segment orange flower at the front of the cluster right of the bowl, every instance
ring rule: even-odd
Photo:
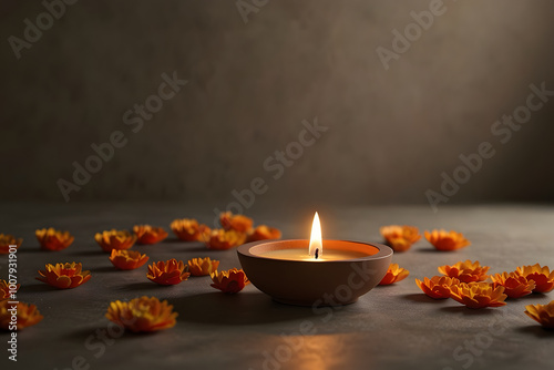
[[[469,308],[504,306],[507,296],[504,287],[493,287],[488,282],[461,282],[450,288],[450,297]]]

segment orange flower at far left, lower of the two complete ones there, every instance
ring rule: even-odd
[[[37,280],[59,289],[76,288],[91,279],[91,271],[82,271],[81,264],[47,264],[45,270],[39,270]]]

